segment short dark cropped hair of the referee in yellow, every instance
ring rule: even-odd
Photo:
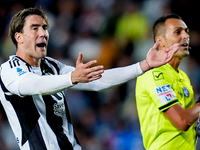
[[[174,14],[174,13],[168,14],[168,15],[165,15],[165,16],[158,18],[153,25],[153,39],[154,39],[154,41],[155,41],[156,36],[158,34],[160,34],[159,30],[160,30],[161,27],[163,27],[165,21],[167,19],[171,19],[171,18],[182,20],[182,18],[179,15]],[[162,29],[162,30],[165,30],[165,29]]]

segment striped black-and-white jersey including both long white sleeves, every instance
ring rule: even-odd
[[[17,56],[1,65],[0,101],[21,150],[81,150],[63,90],[104,90],[143,73],[136,63],[105,70],[98,80],[73,85],[74,70],[50,57],[42,58],[40,67]]]

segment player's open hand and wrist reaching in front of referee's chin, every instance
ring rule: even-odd
[[[174,54],[180,48],[180,44],[176,43],[165,50],[157,51],[159,45],[160,42],[156,42],[147,53],[146,59],[140,62],[140,66],[143,72],[168,63],[172,60]]]

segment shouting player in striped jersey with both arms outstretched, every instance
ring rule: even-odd
[[[18,12],[9,26],[17,51],[1,65],[0,100],[21,150],[81,150],[63,91],[98,91],[122,84],[167,63],[180,47],[157,52],[156,43],[146,60],[105,71],[94,66],[96,60],[83,64],[80,53],[72,67],[46,56],[48,27],[47,16],[36,8]]]

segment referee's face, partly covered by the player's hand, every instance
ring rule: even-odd
[[[183,58],[189,55],[189,29],[186,24],[179,19],[168,19],[165,22],[166,32],[164,44],[167,47],[175,43],[180,43],[180,49],[174,57]]]

